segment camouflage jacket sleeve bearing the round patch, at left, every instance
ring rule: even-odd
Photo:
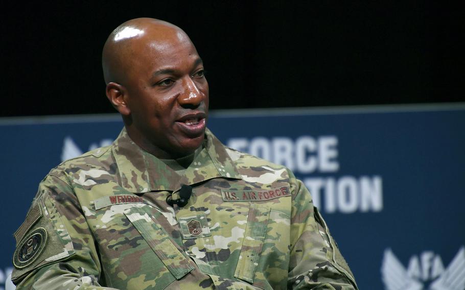
[[[48,176],[15,232],[12,280],[20,289],[114,289],[104,283],[94,238],[72,188]]]

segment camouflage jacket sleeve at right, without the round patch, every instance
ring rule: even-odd
[[[291,175],[291,253],[288,288],[358,289],[308,189]]]

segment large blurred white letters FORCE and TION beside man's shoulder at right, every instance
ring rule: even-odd
[[[300,176],[320,210],[333,213],[379,212],[383,180],[379,175],[314,177],[339,171],[337,136],[231,138],[227,146],[282,164]],[[312,174],[312,177],[305,175]]]

